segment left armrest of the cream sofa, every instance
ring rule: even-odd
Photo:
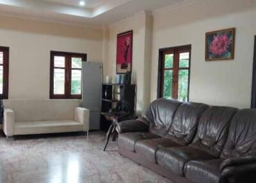
[[[4,108],[3,131],[6,136],[13,136],[14,125],[15,125],[14,123],[15,123],[14,111],[10,108]]]

